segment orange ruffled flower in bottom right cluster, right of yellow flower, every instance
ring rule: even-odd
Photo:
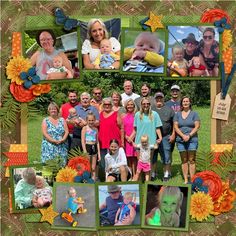
[[[214,202],[214,209],[211,212],[213,215],[219,215],[223,212],[228,212],[234,207],[233,202],[236,199],[236,193],[229,188],[229,181],[222,182],[222,188],[222,194]]]

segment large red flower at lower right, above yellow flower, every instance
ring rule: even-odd
[[[208,193],[212,197],[213,202],[217,200],[223,192],[222,181],[219,175],[213,171],[202,171],[193,176],[192,182],[197,177],[200,177],[203,180],[203,185],[208,187]]]

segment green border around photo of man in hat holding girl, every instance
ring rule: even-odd
[[[139,186],[139,205],[140,205],[140,224],[139,225],[124,225],[124,226],[105,226],[102,227],[100,226],[100,219],[99,219],[99,186],[108,186],[108,185],[138,185]],[[141,223],[142,223],[142,212],[143,212],[143,194],[142,194],[142,187],[143,185],[141,182],[138,181],[131,181],[131,182],[100,182],[100,183],[95,183],[96,186],[96,223],[97,223],[97,229],[98,230],[120,230],[120,229],[134,229],[134,228],[141,228]]]

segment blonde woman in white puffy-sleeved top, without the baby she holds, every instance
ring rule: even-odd
[[[105,38],[109,38],[105,24],[99,19],[91,19],[88,22],[87,39],[82,45],[83,64],[85,69],[95,69],[93,63],[100,54],[100,42]],[[114,37],[111,37],[109,40],[111,41],[112,51],[115,54],[120,55],[119,41]],[[115,61],[112,66],[114,69],[119,69],[120,62]]]

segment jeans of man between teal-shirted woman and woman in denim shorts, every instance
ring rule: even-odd
[[[174,149],[175,143],[169,142],[170,135],[166,135],[162,138],[161,143],[157,150],[154,151],[152,164],[157,162],[158,153],[161,156],[161,162],[164,165],[171,164],[172,162],[172,151]]]

